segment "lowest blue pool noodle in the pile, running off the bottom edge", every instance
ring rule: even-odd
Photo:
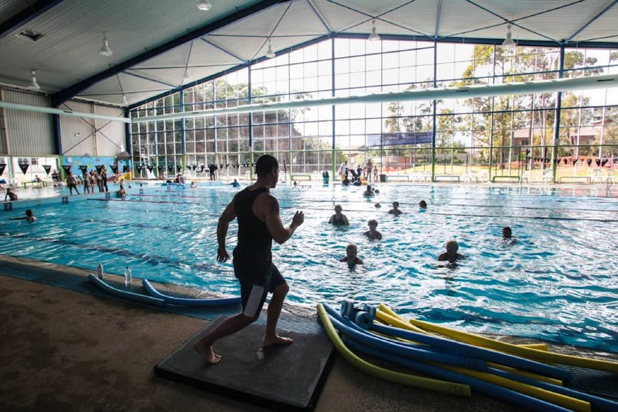
[[[343,325],[343,323],[334,321],[333,324],[336,325],[335,328],[337,329],[339,329],[340,327],[342,328],[339,329],[340,332],[347,334],[346,326]],[[519,393],[517,391],[513,391],[512,389],[507,389],[499,385],[494,385],[492,383],[485,382],[477,378],[472,378],[470,376],[458,374],[457,372],[448,371],[435,365],[415,362],[409,358],[404,358],[402,356],[385,353],[380,350],[367,347],[355,341],[349,334],[347,334],[347,336],[349,337],[344,339],[344,342],[348,347],[350,347],[351,350],[354,350],[356,352],[362,352],[363,354],[367,354],[369,356],[375,356],[376,358],[380,358],[385,361],[395,363],[396,365],[413,369],[415,371],[420,371],[424,374],[427,374],[428,376],[433,376],[435,378],[444,380],[450,380],[452,382],[465,383],[466,385],[470,385],[470,388],[474,389],[474,391],[479,391],[481,393],[485,393],[486,395],[493,396],[494,398],[501,399],[505,402],[519,405],[520,407],[524,407],[527,410],[543,412],[571,411],[571,409],[563,408],[551,402],[540,400],[538,398],[525,395],[524,393]]]

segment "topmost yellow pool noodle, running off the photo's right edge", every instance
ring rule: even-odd
[[[394,313],[390,308],[388,308],[388,306],[384,304],[380,304],[378,309],[378,318],[380,317],[380,312],[386,312],[387,314],[391,315]],[[496,339],[485,338],[485,336],[479,336],[477,334],[472,334],[469,332],[462,332],[459,330],[445,328],[444,326],[436,325],[435,323],[429,323],[417,319],[409,319],[409,323],[411,323],[411,325],[414,325],[416,328],[421,328],[430,332],[439,333],[452,339],[457,339],[458,341],[470,343],[477,346],[490,347],[492,349],[499,350],[500,352],[523,356],[525,358],[534,359],[536,361],[584,367],[588,369],[595,369],[597,371],[606,371],[613,374],[618,374],[618,362],[614,361],[602,361],[599,359],[584,358],[582,356],[558,354],[556,352],[547,352],[544,350],[536,350],[529,347],[521,347],[518,345],[513,345],[512,343],[496,341]]]

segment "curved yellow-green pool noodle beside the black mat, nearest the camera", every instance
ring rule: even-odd
[[[321,323],[326,331],[326,334],[330,337],[334,347],[336,347],[337,351],[343,358],[345,358],[348,362],[352,363],[358,369],[365,371],[367,374],[372,376],[376,376],[377,378],[381,378],[384,380],[388,380],[389,382],[398,383],[401,385],[407,385],[410,387],[416,387],[420,389],[428,389],[431,391],[438,391],[442,393],[450,393],[452,395],[457,396],[465,396],[467,398],[470,397],[470,386],[464,385],[457,382],[446,382],[444,380],[437,380],[433,378],[425,378],[423,376],[415,376],[411,374],[404,374],[399,371],[393,371],[390,369],[386,369],[383,367],[379,367],[374,365],[373,363],[369,363],[365,361],[363,358],[356,356],[354,352],[348,349],[339,334],[337,334],[334,325],[323,305],[317,305],[317,311],[319,314],[319,318]]]

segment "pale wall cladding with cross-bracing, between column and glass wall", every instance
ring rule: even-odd
[[[82,113],[124,116],[121,108],[84,102],[65,102],[61,108]],[[62,155],[115,156],[124,150],[124,123],[101,119],[60,116]]]

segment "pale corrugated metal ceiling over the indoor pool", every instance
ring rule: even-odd
[[[371,19],[380,35],[500,39],[513,21],[516,41],[558,45],[579,32],[573,45],[615,47],[618,38],[617,0],[211,0],[208,12],[197,0],[50,3],[20,23],[15,16],[27,3],[0,0],[0,24],[12,27],[0,37],[0,82],[25,87],[36,69],[42,91],[118,105],[123,93],[135,103],[187,84],[185,67],[194,82],[262,58],[268,38],[277,52],[333,34],[368,34]],[[203,27],[210,30],[165,47]],[[18,35],[25,29],[45,36],[31,41]],[[112,56],[98,53],[102,32]],[[148,55],[161,46],[161,54]]]

